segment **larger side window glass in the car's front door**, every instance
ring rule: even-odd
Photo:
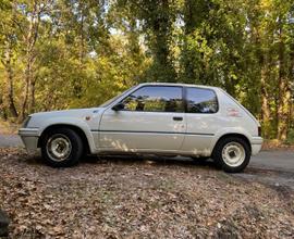
[[[123,100],[126,111],[183,112],[182,87],[146,86]]]

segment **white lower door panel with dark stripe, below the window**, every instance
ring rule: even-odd
[[[183,121],[175,122],[173,116],[183,117]],[[184,113],[115,112],[108,109],[99,127],[99,148],[123,152],[176,151],[182,146],[185,130]]]

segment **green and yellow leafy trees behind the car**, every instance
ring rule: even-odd
[[[293,0],[0,0],[0,117],[143,81],[219,86],[294,142]]]

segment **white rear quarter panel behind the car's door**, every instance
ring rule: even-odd
[[[209,156],[218,140],[229,134],[245,136],[250,143],[258,137],[258,122],[222,90],[216,90],[219,111],[212,114],[187,113],[187,134],[181,151]],[[261,144],[262,140],[256,144]],[[255,149],[258,147],[255,147]],[[255,153],[255,152],[253,152]]]

